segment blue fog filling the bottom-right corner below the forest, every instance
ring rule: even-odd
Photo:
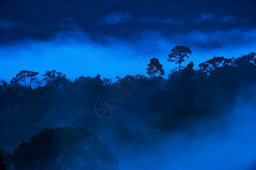
[[[120,169],[255,169],[255,113],[255,98],[239,101],[227,116],[211,122],[212,131],[205,133],[202,122],[129,156],[117,154]]]

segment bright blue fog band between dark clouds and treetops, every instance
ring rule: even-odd
[[[20,70],[40,73],[47,70],[62,71],[71,80],[81,75],[102,77],[120,77],[129,73],[148,52],[163,63],[166,75],[177,67],[167,62],[167,54],[175,45],[190,46],[192,54],[184,66],[193,61],[198,64],[214,56],[226,58],[239,57],[255,50],[255,29],[216,31],[203,33],[191,31],[168,39],[157,31],[145,31],[134,41],[105,37],[106,41],[96,42],[82,32],[58,33],[49,41],[22,40],[12,45],[0,47],[0,76],[7,82]],[[142,69],[142,68],[140,68]],[[142,69],[143,70],[143,69]]]

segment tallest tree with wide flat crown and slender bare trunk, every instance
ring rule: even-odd
[[[184,45],[174,46],[171,49],[171,54],[168,55],[167,61],[175,62],[175,64],[179,64],[179,90],[181,89],[181,63],[184,62],[184,58],[188,58],[188,54],[191,54],[190,48]]]

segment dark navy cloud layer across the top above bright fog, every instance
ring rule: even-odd
[[[82,31],[92,40],[133,41],[147,30],[165,37],[191,31],[216,32],[256,27],[254,1],[1,1],[1,44],[49,40],[58,32]],[[4,23],[4,24],[3,24]],[[14,23],[22,23],[14,24]],[[214,45],[210,41],[207,46]],[[196,42],[200,44],[200,42]]]

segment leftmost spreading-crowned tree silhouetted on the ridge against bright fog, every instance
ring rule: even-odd
[[[37,81],[36,76],[38,74],[39,73],[34,71],[22,70],[18,74],[16,74],[15,79],[18,80],[19,83],[24,83],[25,87],[27,87],[26,80],[30,79],[30,87],[31,87],[31,83]]]

